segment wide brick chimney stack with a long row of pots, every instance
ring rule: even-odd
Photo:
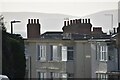
[[[62,30],[63,33],[91,35],[91,28],[90,19],[73,19],[67,21],[67,25],[63,26]]]

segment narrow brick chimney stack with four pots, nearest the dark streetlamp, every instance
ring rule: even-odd
[[[39,38],[39,37],[40,37],[39,19],[28,19],[27,38]]]

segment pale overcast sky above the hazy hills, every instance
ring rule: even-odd
[[[42,12],[85,16],[118,8],[119,0],[0,0],[2,12]]]

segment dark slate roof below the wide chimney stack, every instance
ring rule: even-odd
[[[99,35],[88,35],[88,34],[71,34],[71,33],[63,33],[63,32],[45,32],[40,35],[41,39],[61,39],[61,40],[87,40],[87,39],[110,39],[111,35],[107,34],[99,34]]]

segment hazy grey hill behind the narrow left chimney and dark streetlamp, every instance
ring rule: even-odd
[[[76,16],[71,15],[36,12],[3,12],[2,15],[5,17],[8,32],[10,32],[10,21],[21,21],[21,23],[14,24],[14,32],[22,34],[23,37],[26,37],[26,25],[29,18],[40,19],[42,33],[46,31],[62,31],[63,21],[65,18],[77,18]]]

